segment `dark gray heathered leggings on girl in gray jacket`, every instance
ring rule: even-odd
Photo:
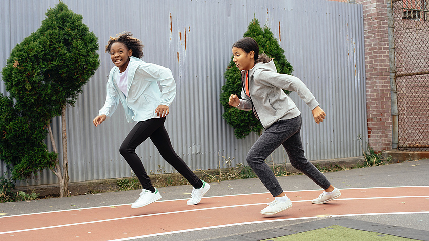
[[[270,167],[265,163],[265,159],[280,145],[286,150],[293,167],[310,177],[314,183],[323,189],[327,189],[331,184],[328,179],[304,156],[302,148],[300,130],[301,115],[293,119],[275,122],[259,139],[253,144],[247,153],[247,164],[259,177],[263,185],[270,191],[273,197],[283,192],[282,187]]]

